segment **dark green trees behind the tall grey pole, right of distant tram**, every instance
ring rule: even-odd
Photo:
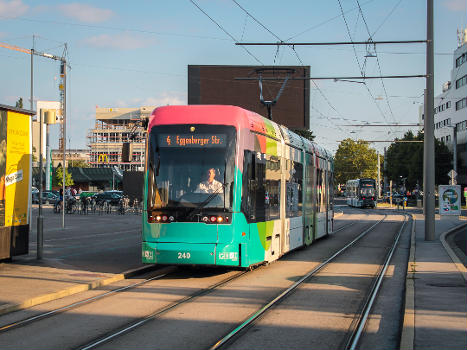
[[[405,133],[401,141],[423,141],[424,134],[416,136],[412,131]],[[397,139],[396,139],[397,140]],[[447,184],[447,173],[452,168],[452,153],[447,146],[435,139],[435,184]],[[399,185],[402,178],[407,178],[407,189],[413,189],[418,183],[423,184],[423,142],[394,142],[386,152],[386,172],[388,180]]]

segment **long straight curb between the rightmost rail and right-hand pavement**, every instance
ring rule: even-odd
[[[404,321],[399,349],[413,350],[415,341],[415,225],[417,220],[412,217],[412,232],[410,235],[410,255],[407,266],[407,277],[405,278],[405,305]]]

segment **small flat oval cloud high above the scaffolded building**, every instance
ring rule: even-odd
[[[128,33],[122,33],[116,35],[102,34],[92,36],[84,39],[84,43],[97,48],[133,50],[147,47],[152,41]]]

